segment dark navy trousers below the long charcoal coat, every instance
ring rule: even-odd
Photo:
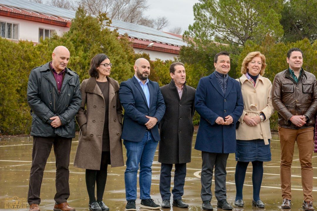
[[[162,200],[171,198],[171,170],[173,164],[161,163],[159,178],[159,192]],[[173,200],[182,199],[186,177],[186,163],[175,164],[174,187],[172,189]]]

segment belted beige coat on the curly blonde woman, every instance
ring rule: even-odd
[[[236,80],[239,81],[239,79]],[[262,75],[258,76],[255,87],[245,74],[240,77],[240,81],[242,84],[241,91],[244,109],[239,119],[239,128],[236,130],[236,139],[264,139],[264,143],[268,144],[268,139],[272,138],[269,118],[275,111],[271,98],[272,83],[268,78],[264,78]],[[246,114],[249,117],[256,117],[259,116],[260,113],[264,113],[266,119],[256,126],[249,126],[243,121]]]

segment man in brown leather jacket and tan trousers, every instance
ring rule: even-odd
[[[314,74],[303,68],[303,52],[291,48],[286,58],[289,68],[276,74],[272,102],[278,111],[278,132],[281,142],[282,208],[291,208],[291,165],[297,142],[304,193],[303,208],[313,207],[314,115],[317,110],[317,84]]]

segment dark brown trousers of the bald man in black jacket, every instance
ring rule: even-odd
[[[28,203],[40,204],[40,192],[43,173],[52,146],[56,160],[56,194],[54,200],[60,204],[66,202],[69,193],[69,155],[72,145],[71,138],[64,137],[33,137],[32,167],[30,171]]]

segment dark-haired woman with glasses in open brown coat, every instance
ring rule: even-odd
[[[118,81],[109,77],[112,64],[105,54],[91,60],[89,79],[80,86],[82,103],[76,115],[81,128],[74,166],[86,169],[89,210],[108,211],[102,201],[107,166],[123,166],[122,106]],[[86,110],[85,110],[86,105]],[[97,186],[97,200],[95,198]]]

